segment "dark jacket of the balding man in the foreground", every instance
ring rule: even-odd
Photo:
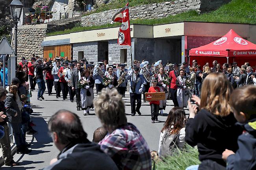
[[[100,150],[100,145],[87,142],[65,148],[58,161],[44,170],[118,170],[114,161]]]

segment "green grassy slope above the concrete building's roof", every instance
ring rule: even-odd
[[[131,24],[167,24],[171,22],[182,21],[203,21],[203,22],[230,22],[256,24],[256,0],[232,0],[230,3],[221,6],[216,11],[210,13],[198,14],[196,11],[180,13],[175,16],[169,16],[161,19],[136,19],[131,20]],[[47,35],[59,35],[77,31],[95,30],[99,28],[110,28],[119,26],[119,23],[113,25],[106,24],[92,27],[74,27],[64,31],[56,31]]]

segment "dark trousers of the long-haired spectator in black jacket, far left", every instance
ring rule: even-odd
[[[11,123],[13,128],[14,139],[18,148],[25,146],[25,138],[21,129],[21,123]]]

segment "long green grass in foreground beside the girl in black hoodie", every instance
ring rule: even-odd
[[[166,157],[163,161],[156,163],[157,170],[185,170],[188,166],[200,164],[198,160],[198,150],[189,145],[186,149]]]

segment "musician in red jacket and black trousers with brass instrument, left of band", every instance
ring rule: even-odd
[[[58,74],[63,100],[66,100],[69,92],[68,83],[65,80],[65,72],[68,69],[68,64],[69,64],[68,62],[63,62],[63,67],[59,68],[59,74]]]

